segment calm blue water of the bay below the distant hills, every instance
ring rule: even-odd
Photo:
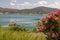
[[[40,18],[43,18],[43,15],[20,15],[20,14],[2,14],[0,15],[0,24],[5,26],[10,23],[10,21],[14,21],[17,24],[33,24],[40,21]],[[26,28],[33,28],[34,25],[29,25],[29,27],[25,26]]]

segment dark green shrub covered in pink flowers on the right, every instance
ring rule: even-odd
[[[41,19],[40,31],[48,36],[48,40],[60,39],[60,10],[49,13]]]

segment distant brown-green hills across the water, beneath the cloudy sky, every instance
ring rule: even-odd
[[[0,7],[0,12],[2,13],[8,12],[8,13],[19,13],[19,14],[47,14],[49,12],[55,12],[56,10],[57,10],[56,8],[49,8],[43,6],[32,9],[23,9],[23,10]]]

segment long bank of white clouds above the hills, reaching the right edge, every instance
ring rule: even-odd
[[[45,7],[51,7],[51,8],[60,8],[59,1],[51,3],[51,4],[48,4],[47,1],[38,1],[36,3],[24,2],[22,4],[11,2],[10,5],[17,8],[17,9],[28,9],[28,8],[34,8],[34,7],[39,7],[39,6],[45,6]]]

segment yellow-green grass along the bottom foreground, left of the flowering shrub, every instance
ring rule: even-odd
[[[43,33],[0,29],[0,40],[46,40],[46,36]]]

